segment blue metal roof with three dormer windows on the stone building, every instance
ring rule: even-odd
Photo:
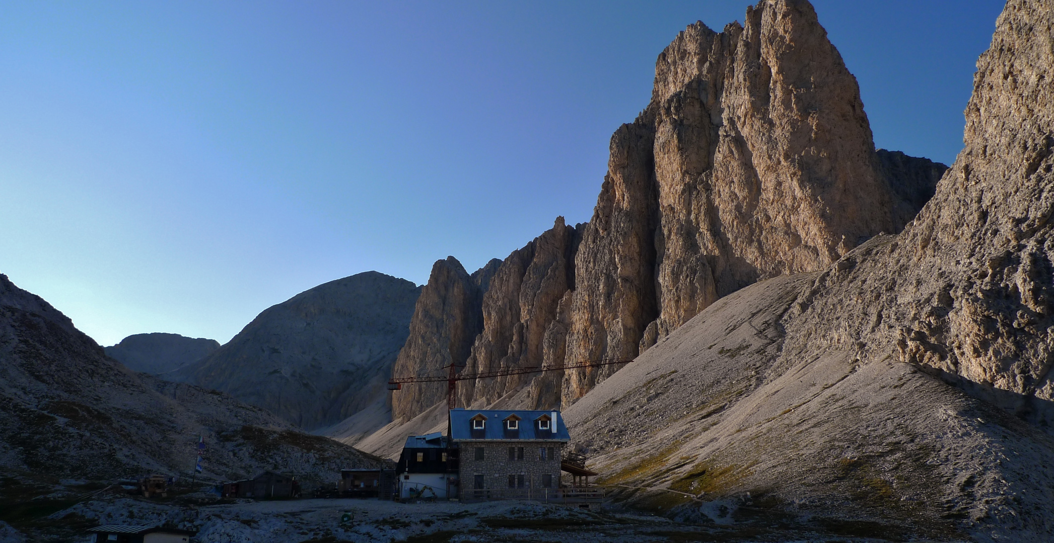
[[[472,429],[472,419],[476,415],[486,417],[483,430]],[[516,430],[505,428],[505,420],[511,415],[521,419],[520,427]],[[553,428],[554,431],[538,428],[538,419],[546,415],[553,419],[550,428]],[[564,417],[560,415],[560,411],[529,409],[451,409],[450,437],[454,440],[571,440],[571,435],[568,434]]]

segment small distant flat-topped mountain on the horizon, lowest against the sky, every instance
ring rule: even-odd
[[[104,348],[108,357],[129,369],[156,375],[201,360],[219,348],[219,342],[157,331],[129,336]]]

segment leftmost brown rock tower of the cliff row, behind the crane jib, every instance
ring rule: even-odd
[[[391,375],[444,377],[445,366],[465,365],[472,341],[483,328],[483,293],[499,264],[492,260],[470,276],[453,257],[435,262]],[[446,398],[446,383],[407,385],[392,395],[392,418],[412,419],[436,403],[445,403]]]

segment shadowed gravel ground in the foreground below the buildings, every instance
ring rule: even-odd
[[[212,504],[207,504],[209,500]],[[36,529],[27,541],[87,543],[90,539],[83,535],[83,529],[97,524],[176,526],[197,530],[195,540],[200,543],[884,541],[860,537],[866,534],[854,534],[853,529],[859,531],[859,527],[759,523],[734,519],[735,515],[713,522],[705,520],[709,518],[706,511],[702,511],[704,521],[688,524],[613,507],[589,511],[519,501],[403,504],[378,500],[238,500],[216,503],[214,497],[206,495],[181,497],[177,501],[181,503],[110,497],[80,503],[52,515],[51,528]],[[345,515],[350,519],[344,520]],[[74,536],[70,526],[79,526],[78,535]]]

